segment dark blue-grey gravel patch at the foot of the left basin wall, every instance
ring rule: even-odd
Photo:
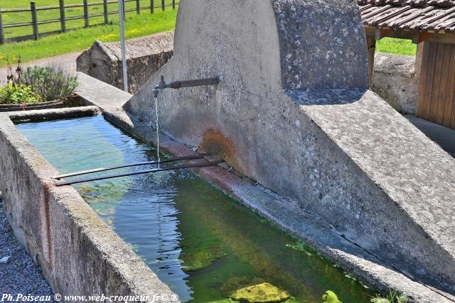
[[[31,294],[53,298],[53,292],[41,269],[33,263],[31,256],[14,237],[6,221],[0,197],[0,260],[6,256],[11,258],[7,263],[0,262],[0,296],[12,294],[16,299],[17,294]]]

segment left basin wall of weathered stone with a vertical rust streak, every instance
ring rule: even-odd
[[[0,191],[16,237],[53,291],[62,295],[139,295],[171,302],[171,290],[0,114]],[[166,294],[163,299],[161,294]],[[144,302],[144,300],[141,300]]]

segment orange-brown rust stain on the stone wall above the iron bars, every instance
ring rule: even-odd
[[[206,130],[203,133],[202,143],[200,143],[199,149],[218,158],[222,158],[235,170],[241,171],[234,144],[221,131],[213,128]]]

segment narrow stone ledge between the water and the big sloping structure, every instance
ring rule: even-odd
[[[156,133],[119,109],[103,111],[105,118],[128,133],[156,143]],[[160,149],[175,157],[196,155],[191,148],[161,134]],[[194,169],[201,177],[227,192],[242,204],[275,222],[279,227],[309,243],[333,262],[343,266],[375,290],[387,294],[390,288],[410,296],[410,302],[454,302],[455,297],[435,292],[431,287],[411,280],[402,272],[360,248],[331,229],[314,214],[301,209],[299,203],[286,199],[259,184],[252,184],[221,167]]]

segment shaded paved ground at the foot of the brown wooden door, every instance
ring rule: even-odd
[[[441,126],[416,116],[406,116],[428,138],[441,146],[443,150],[455,157],[455,129]]]

